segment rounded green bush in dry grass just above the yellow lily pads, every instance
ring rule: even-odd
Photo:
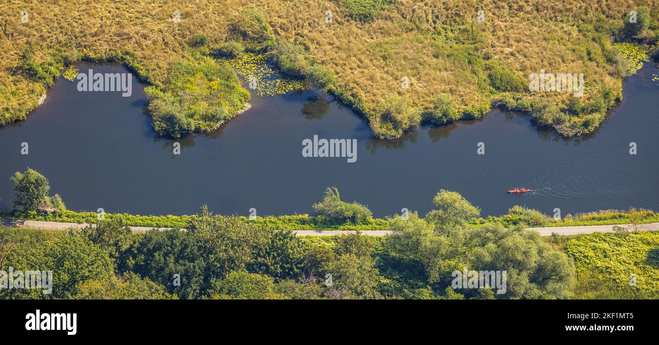
[[[246,51],[263,53],[275,46],[275,37],[266,18],[254,7],[243,7],[229,24],[230,38]]]

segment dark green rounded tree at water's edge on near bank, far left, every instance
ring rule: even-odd
[[[10,180],[16,191],[14,209],[37,211],[46,204],[50,185],[42,174],[28,168],[24,173],[14,173]]]

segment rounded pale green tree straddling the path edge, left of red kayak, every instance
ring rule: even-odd
[[[473,206],[460,193],[440,190],[432,199],[437,208],[428,212],[426,220],[435,225],[435,231],[444,233],[461,229],[469,219],[480,216],[480,208]]]

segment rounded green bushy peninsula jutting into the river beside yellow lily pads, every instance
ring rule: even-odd
[[[235,73],[210,57],[176,62],[167,78],[165,89],[144,89],[154,129],[165,137],[211,131],[243,110],[250,99]]]

